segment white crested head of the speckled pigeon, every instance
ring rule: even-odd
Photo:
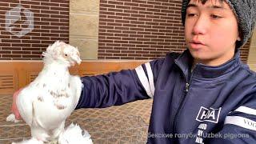
[[[65,42],[54,42],[53,45],[48,46],[46,52],[42,53],[44,62],[59,62],[67,66],[78,65],[82,62],[77,47],[66,44]]]

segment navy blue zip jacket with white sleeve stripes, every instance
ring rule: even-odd
[[[256,144],[256,77],[239,52],[191,72],[192,62],[185,50],[134,70],[84,77],[76,109],[154,98],[148,143]]]

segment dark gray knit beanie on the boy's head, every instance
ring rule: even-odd
[[[241,41],[236,43],[236,48],[242,47],[250,38],[256,21],[256,0],[225,0],[238,18],[239,34]],[[182,0],[182,23],[185,25],[186,6],[190,0]]]

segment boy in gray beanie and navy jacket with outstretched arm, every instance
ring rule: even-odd
[[[188,50],[81,78],[77,109],[154,98],[148,143],[256,143],[256,74],[239,58],[255,18],[255,0],[183,0]]]

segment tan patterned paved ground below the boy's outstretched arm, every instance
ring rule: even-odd
[[[11,94],[0,95],[0,144],[10,142],[1,139],[30,136],[30,129],[24,126],[24,122],[18,122],[15,125],[6,122],[6,117],[10,114],[11,102]],[[150,121],[151,106],[152,99],[148,99],[104,109],[75,110],[67,123],[78,122],[89,131],[93,139],[97,140],[94,143],[143,143],[146,127]],[[141,136],[140,133],[144,135]],[[141,137],[143,141],[137,142]]]

